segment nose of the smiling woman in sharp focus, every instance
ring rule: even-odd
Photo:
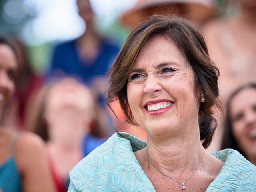
[[[145,81],[144,93],[154,95],[162,90],[158,79],[154,76],[148,76]]]

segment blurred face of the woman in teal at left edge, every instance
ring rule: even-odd
[[[6,44],[0,44],[0,110],[14,94],[17,67],[13,50]]]

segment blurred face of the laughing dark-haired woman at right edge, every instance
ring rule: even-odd
[[[256,156],[256,89],[246,88],[230,103],[232,131],[246,156]]]

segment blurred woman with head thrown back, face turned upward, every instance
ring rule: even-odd
[[[106,136],[98,129],[104,127],[104,119],[96,121],[101,111],[90,89],[73,78],[46,85],[30,105],[27,127],[46,141],[56,188],[66,192],[70,170],[106,140],[96,137]]]

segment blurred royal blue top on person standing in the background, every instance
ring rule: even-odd
[[[64,74],[80,78],[90,84],[95,76],[106,76],[120,48],[109,40],[100,42],[98,56],[94,61],[80,60],[76,40],[59,44],[55,47],[49,75],[51,77]]]

